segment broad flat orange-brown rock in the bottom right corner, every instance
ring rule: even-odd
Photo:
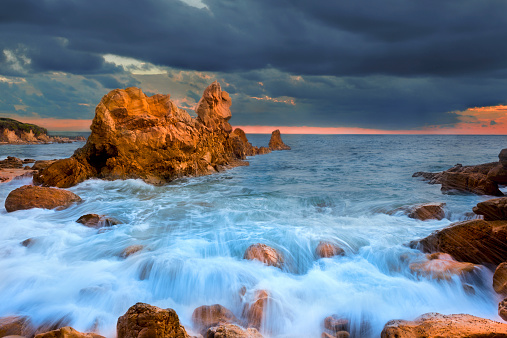
[[[507,337],[507,324],[466,314],[427,313],[414,321],[391,320],[382,330],[382,338],[415,337]]]

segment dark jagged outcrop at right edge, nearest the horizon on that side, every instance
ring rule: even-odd
[[[438,172],[416,172],[412,177],[422,177],[430,184],[442,184],[441,190],[472,192],[478,195],[502,196],[498,185],[507,185],[507,149],[502,149],[498,162],[454,167]]]

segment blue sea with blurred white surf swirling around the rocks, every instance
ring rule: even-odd
[[[269,135],[248,135],[265,146]],[[201,305],[221,304],[237,317],[246,296],[267,290],[261,333],[320,337],[325,317],[350,321],[355,337],[378,337],[391,319],[427,312],[500,320],[492,273],[467,282],[432,280],[408,268],[423,254],[407,246],[492,198],[444,195],[412,178],[456,163],[498,160],[507,136],[282,135],[290,151],[249,158],[250,166],[151,186],[140,180],[88,180],[69,190],[83,203],[66,210],[7,213],[9,192],[30,179],[0,185],[0,317],[28,315],[35,324],[63,320],[78,331],[114,337],[116,321],[136,302],[173,308],[192,331]],[[0,158],[65,158],[83,142],[0,146]],[[504,190],[505,191],[505,190]],[[445,202],[446,218],[419,221],[402,207]],[[124,224],[97,230],[75,221],[105,214]],[[33,245],[20,242],[33,239]],[[317,259],[320,241],[344,256]],[[282,269],[243,259],[264,243],[279,250]],[[126,259],[130,245],[144,249]],[[195,332],[194,332],[195,333]]]

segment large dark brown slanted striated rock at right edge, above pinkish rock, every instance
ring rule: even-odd
[[[498,265],[507,261],[507,221],[453,223],[410,243],[424,252],[443,252],[460,262]]]

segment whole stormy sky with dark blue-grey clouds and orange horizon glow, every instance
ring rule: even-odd
[[[1,0],[0,117],[89,130],[140,87],[246,132],[507,134],[505,0]]]

